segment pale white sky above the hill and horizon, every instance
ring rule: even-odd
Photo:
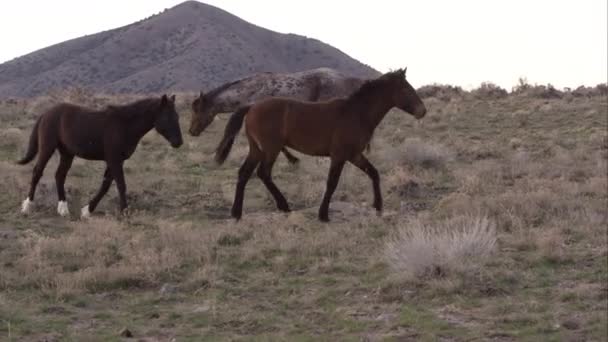
[[[0,63],[130,24],[179,0],[2,0]],[[414,86],[518,78],[558,88],[607,81],[606,0],[206,0],[258,26],[331,44]]]

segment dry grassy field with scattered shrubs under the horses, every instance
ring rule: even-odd
[[[40,111],[129,99],[2,101],[0,340],[605,341],[607,96],[520,89],[430,87],[423,121],[389,113],[369,154],[385,212],[347,166],[329,224],[316,219],[328,161],[307,156],[275,167],[294,212],[252,178],[230,219],[247,147],[214,164],[226,116],[178,150],[144,137],[128,216],[113,186],[79,219],[104,165],[77,159],[59,217],[55,156],[24,217],[33,164],[14,161]],[[191,98],[178,96],[185,134]]]

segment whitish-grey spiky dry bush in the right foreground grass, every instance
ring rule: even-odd
[[[384,257],[405,280],[475,273],[496,244],[485,216],[460,216],[426,225],[412,220],[386,241]]]

